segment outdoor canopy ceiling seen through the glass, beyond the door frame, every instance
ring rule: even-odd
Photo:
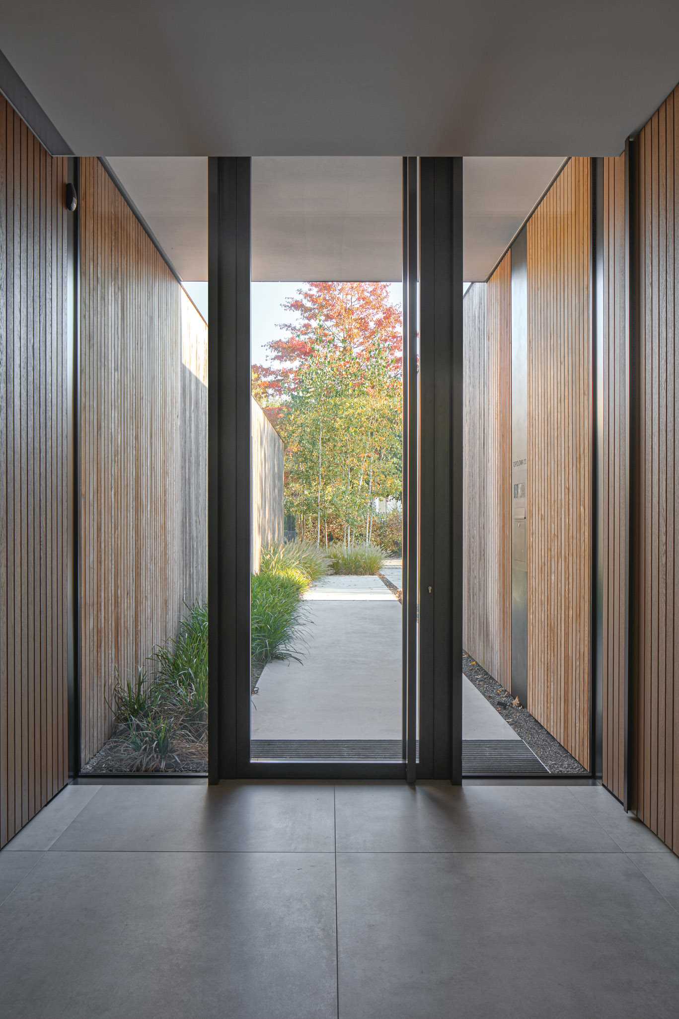
[[[486,279],[557,158],[463,161],[464,278]],[[109,157],[184,280],[208,277],[207,160]],[[401,160],[252,160],[252,279],[401,278]]]

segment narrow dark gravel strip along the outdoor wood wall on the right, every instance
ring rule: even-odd
[[[518,698],[513,698],[466,651],[462,654],[462,671],[552,774],[587,774],[586,768],[571,757],[529,711],[517,703]]]

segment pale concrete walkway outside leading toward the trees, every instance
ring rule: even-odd
[[[400,566],[391,569],[400,578]],[[324,577],[304,600],[301,663],[273,661],[262,673],[252,739],[400,740],[397,599],[379,577]],[[462,689],[463,739],[519,739],[466,677]]]

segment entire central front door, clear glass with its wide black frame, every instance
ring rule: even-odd
[[[210,160],[212,782],[460,781],[461,169]]]

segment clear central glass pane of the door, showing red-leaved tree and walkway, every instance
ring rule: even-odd
[[[397,158],[251,161],[260,767],[404,767],[402,181]]]

